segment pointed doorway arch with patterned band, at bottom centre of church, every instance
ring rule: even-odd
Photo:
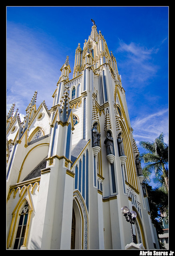
[[[75,249],[88,249],[88,214],[79,190],[73,193],[73,208],[76,216]]]

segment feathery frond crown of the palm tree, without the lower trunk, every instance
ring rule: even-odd
[[[145,182],[150,182],[151,174],[154,174],[153,182],[158,184],[160,190],[168,193],[168,145],[164,143],[164,135],[161,133],[154,142],[139,142],[147,153],[140,155],[146,165],[143,167]]]

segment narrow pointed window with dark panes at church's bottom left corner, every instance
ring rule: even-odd
[[[17,232],[16,232],[16,238],[15,238],[13,249],[20,249],[20,246],[23,245],[24,236],[25,236],[25,233],[26,233],[28,210],[29,210],[29,205],[28,205],[28,202],[26,202],[24,204],[24,206],[22,207],[22,210],[19,214],[20,219],[19,219],[19,222],[18,222],[18,229],[17,229]]]

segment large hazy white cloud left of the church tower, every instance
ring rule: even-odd
[[[52,106],[52,93],[56,88],[62,62],[58,63],[45,48],[39,36],[25,27],[8,24],[7,36],[7,111],[16,103],[19,112],[25,114],[34,92],[37,102],[46,100]],[[59,54],[59,53],[58,53]]]

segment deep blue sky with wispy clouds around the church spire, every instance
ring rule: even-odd
[[[52,94],[69,56],[88,39],[95,20],[117,60],[133,137],[153,142],[168,135],[169,8],[167,6],[7,6],[6,105],[15,102],[20,117],[37,90],[36,107]]]

